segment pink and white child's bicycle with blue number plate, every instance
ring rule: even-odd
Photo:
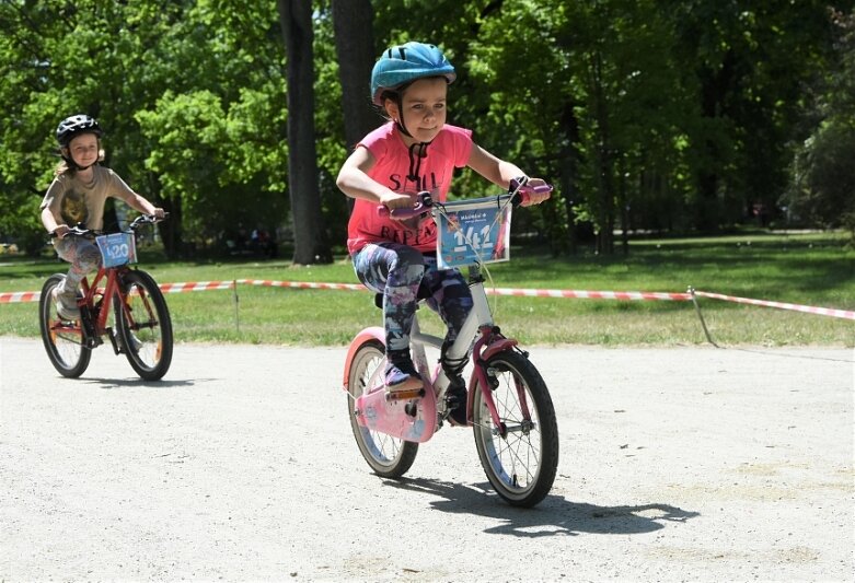
[[[552,190],[551,186],[535,188]],[[466,417],[487,479],[507,502],[525,508],[552,489],[558,428],[546,384],[528,352],[493,322],[483,266],[508,260],[511,209],[533,189],[521,179],[508,194],[444,203],[431,202],[424,193],[415,209],[391,211],[401,219],[430,212],[437,222],[440,268],[469,269],[474,307],[448,354],[470,361]],[[442,338],[423,333],[416,317],[411,351],[425,386],[390,396],[384,386],[384,336],[382,327],[369,327],[354,338],[344,389],[354,436],[366,462],[379,476],[398,478],[412,467],[418,444],[448,420],[449,380],[439,364],[430,371],[425,350],[439,349]]]

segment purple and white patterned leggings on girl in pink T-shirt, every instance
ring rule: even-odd
[[[353,257],[354,270],[368,289],[383,294],[386,354],[409,354],[409,328],[419,284],[430,292],[427,304],[448,326],[453,342],[472,311],[472,293],[457,269],[438,269],[436,257],[400,243],[368,244]]]

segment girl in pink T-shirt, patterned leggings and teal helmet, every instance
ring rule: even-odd
[[[429,214],[396,220],[381,217],[378,205],[390,210],[411,208],[418,193],[444,202],[455,167],[470,167],[507,189],[524,176],[515,164],[500,160],[472,140],[472,131],[446,123],[448,85],[454,67],[434,45],[406,43],[386,49],[371,72],[371,98],[389,121],[366,136],[343,164],[336,184],[356,199],[348,223],[347,248],[359,281],[383,295],[385,384],[391,393],[423,386],[409,353],[409,329],[419,296],[439,313],[448,327],[440,362],[451,381],[448,389],[451,419],[466,424],[466,387],[461,376],[465,358],[451,358],[447,349],[457,339],[472,310],[472,295],[457,269],[437,267],[436,224]],[[532,186],[545,184],[531,178]],[[548,194],[532,194],[536,205]]]

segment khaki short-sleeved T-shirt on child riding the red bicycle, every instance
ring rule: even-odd
[[[118,174],[104,166],[93,166],[93,179],[84,183],[78,173],[61,174],[54,178],[39,209],[49,208],[54,217],[74,226],[83,223],[86,229],[100,231],[104,226],[104,202],[114,197],[129,202],[136,195]]]

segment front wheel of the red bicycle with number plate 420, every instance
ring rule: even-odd
[[[125,302],[116,294],[116,326],[131,368],[146,381],[158,381],[172,363],[172,320],[157,282],[140,270],[122,276]]]

